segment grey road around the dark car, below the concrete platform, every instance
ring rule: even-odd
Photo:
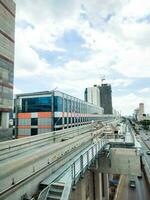
[[[135,178],[136,188],[129,187],[128,176],[122,176],[121,187],[116,200],[150,200],[150,188],[142,174],[142,179]]]

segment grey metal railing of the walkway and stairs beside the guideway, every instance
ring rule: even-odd
[[[86,148],[79,155],[77,155],[72,161],[70,161],[70,163],[67,163],[67,165],[69,165],[68,169],[64,170],[64,172],[61,171],[61,174],[58,175],[56,180],[49,177],[42,181],[41,184],[47,186],[40,193],[38,200],[47,199],[49,191],[51,190],[51,185],[54,183],[64,184],[64,191],[62,192],[61,199],[67,200],[72,186],[75,187],[80,177],[84,176],[85,171],[90,168],[91,164],[94,164],[95,158],[98,159],[98,153],[103,150],[106,143],[107,141],[105,139],[100,139],[97,144],[92,144],[90,147]]]

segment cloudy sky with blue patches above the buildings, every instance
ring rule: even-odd
[[[15,0],[15,94],[57,89],[80,99],[112,86],[113,108],[150,113],[150,0]]]

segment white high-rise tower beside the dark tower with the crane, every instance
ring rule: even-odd
[[[86,102],[92,103],[96,106],[100,106],[100,90],[97,85],[88,87],[84,92],[84,99]]]

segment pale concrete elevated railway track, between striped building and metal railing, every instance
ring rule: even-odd
[[[73,162],[93,145],[93,139],[101,136],[102,132],[103,127],[96,130],[87,125],[80,127],[80,131],[76,127],[72,132],[71,129],[65,129],[1,143],[0,199],[17,200],[26,193],[32,197],[37,193],[42,180],[57,174],[66,163]],[[99,142],[97,148],[102,148],[108,141],[104,138]]]

